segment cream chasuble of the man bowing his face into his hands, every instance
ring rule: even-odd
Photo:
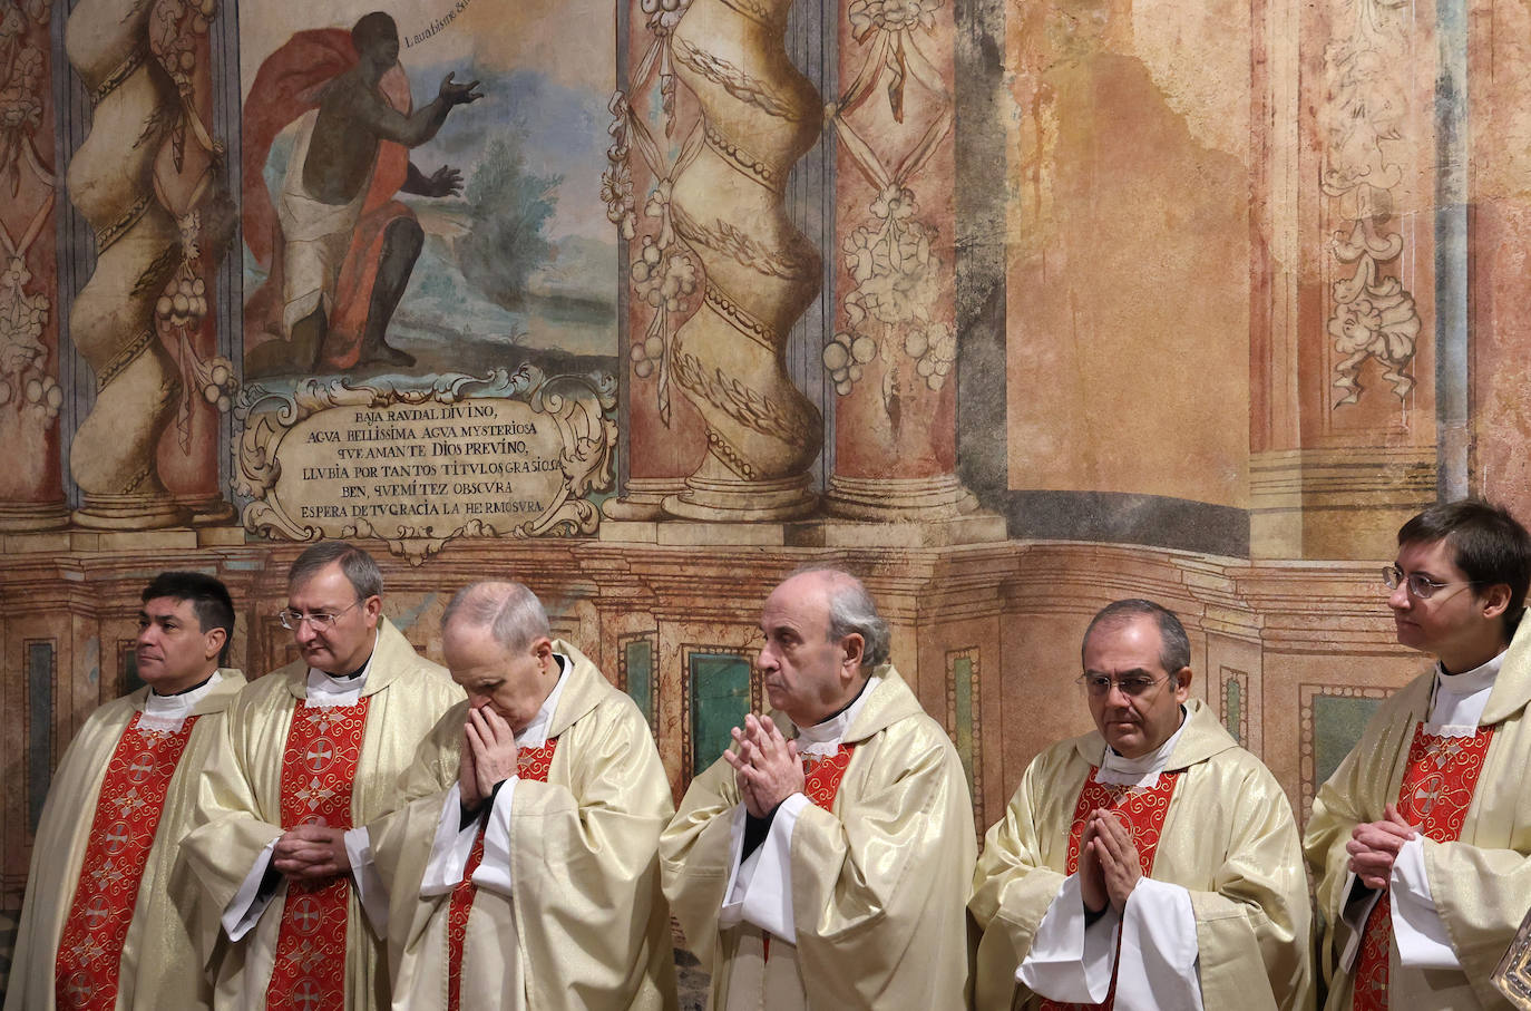
[[[557,746],[545,783],[508,780],[490,812],[462,942],[461,1006],[674,1008],[675,954],[655,855],[674,813],[669,780],[632,700],[574,646],[554,640],[553,651],[570,663],[547,726],[527,734]],[[372,826],[401,1009],[447,1006],[452,892],[421,890],[436,869],[438,835],[446,847],[472,841],[459,832],[456,789],[465,718],[467,703],[441,718],[404,781],[418,800]],[[464,849],[453,881],[465,859]]]

